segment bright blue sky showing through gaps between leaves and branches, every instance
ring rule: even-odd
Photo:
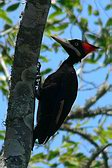
[[[103,7],[105,6],[105,3],[110,2],[110,0],[106,0],[106,1],[105,0],[102,0],[102,1],[100,1],[100,0],[98,0],[98,1],[82,0],[82,2],[84,2],[85,4],[86,3],[91,3],[91,5],[94,8],[96,8],[96,5],[97,5],[97,8],[101,12],[101,17],[102,17],[104,23],[106,22],[108,17],[110,17],[112,15],[111,12],[106,12],[105,13],[104,9],[103,9]],[[23,8],[24,8],[24,4],[21,3],[20,8],[18,9],[18,11],[16,11],[16,13],[10,13],[10,16],[12,17],[14,23],[17,23],[17,22],[20,21],[19,16],[20,16],[21,12],[23,11]],[[84,5],[84,8],[85,8],[85,10],[84,10],[83,15],[87,16],[87,12],[86,12],[87,11],[87,5]],[[51,8],[50,13],[52,12],[52,10],[53,9]],[[99,30],[97,30],[96,27],[93,26],[93,20],[94,20],[94,17],[89,18],[89,26],[92,27],[93,32],[97,34]],[[3,24],[3,22],[1,21],[0,24]],[[82,34],[81,34],[78,27],[76,27],[74,29],[74,31],[72,31],[72,37],[73,38],[78,38],[78,39],[82,38]],[[68,29],[64,32],[64,34],[61,35],[61,38],[71,39],[70,27],[68,27]],[[48,40],[48,38],[43,37],[43,42],[51,43],[52,39],[50,38]],[[59,48],[58,53],[52,52],[52,54],[51,53],[48,53],[48,54],[49,55],[47,55],[47,53],[46,53],[46,55],[47,55],[47,57],[50,61],[48,63],[44,63],[42,65],[42,70],[44,70],[47,67],[51,67],[53,69],[53,71],[55,71],[59,67],[60,62],[63,62],[67,58],[67,55],[66,54],[64,55],[63,52],[62,52],[62,48]],[[81,65],[78,64],[77,66],[75,66],[75,69],[78,70],[80,68],[80,66]],[[92,69],[92,68],[95,68],[95,65],[88,65],[86,69]],[[92,81],[96,80],[97,84],[100,84],[101,81],[104,80],[104,77],[105,77],[104,74],[108,71],[108,68],[109,67],[106,67],[103,70],[101,69],[101,71],[97,72],[97,74],[94,73],[92,76],[86,75],[86,79],[89,79],[90,81],[91,80]],[[111,75],[111,77],[112,77],[112,75]],[[80,80],[79,80],[79,82],[80,82]],[[81,84],[79,84],[79,87],[80,87],[80,85]],[[77,99],[76,99],[76,104],[79,104],[79,105],[83,106],[83,104],[85,103],[85,100],[89,99],[90,96],[92,96],[92,95],[94,96],[94,94],[95,94],[94,90],[91,90],[91,93],[90,93],[90,91],[79,92],[78,96],[77,96]],[[111,104],[111,100],[112,100],[111,93],[108,93],[102,100],[98,101],[98,104],[96,104],[95,107],[102,106],[102,104],[105,104],[105,102],[107,100],[108,100],[107,104]],[[1,110],[0,110],[1,111],[0,112],[0,130],[5,129],[3,122],[5,121],[5,117],[6,117],[7,103],[8,102],[7,102],[6,98],[0,92],[0,107],[1,107]],[[92,124],[94,125],[93,122],[92,122]],[[60,138],[60,135],[56,136],[55,142],[53,141],[53,143],[51,144],[52,147],[60,145],[60,142],[58,142],[59,138]],[[79,140],[79,139],[80,138],[77,137],[77,140]],[[2,145],[1,142],[0,142],[0,145]],[[41,150],[42,150],[42,148],[41,148]]]

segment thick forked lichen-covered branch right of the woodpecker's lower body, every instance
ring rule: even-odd
[[[96,95],[88,99],[83,107],[78,107],[75,109],[75,112],[71,112],[67,118],[67,121],[70,119],[84,119],[91,118],[98,115],[112,116],[112,106],[99,107],[94,110],[91,110],[92,107],[104,94],[111,90],[112,85],[104,83],[98,89]]]

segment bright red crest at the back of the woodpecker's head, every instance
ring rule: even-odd
[[[96,47],[92,44],[89,44],[88,42],[82,42],[82,47],[83,47],[86,55],[89,54],[90,52],[93,52],[93,51],[99,49],[99,47]]]

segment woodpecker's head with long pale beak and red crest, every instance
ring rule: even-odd
[[[99,47],[89,44],[86,41],[78,39],[63,40],[56,36],[51,36],[54,40],[62,45],[68,55],[74,59],[75,63],[81,62],[81,60],[89,53],[95,51]]]

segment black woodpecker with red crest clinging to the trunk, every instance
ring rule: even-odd
[[[73,65],[98,48],[77,39],[65,41],[56,36],[52,38],[62,45],[69,57],[55,73],[47,77],[40,88],[32,146],[36,139],[39,144],[45,144],[60,128],[77,96],[78,81]]]

